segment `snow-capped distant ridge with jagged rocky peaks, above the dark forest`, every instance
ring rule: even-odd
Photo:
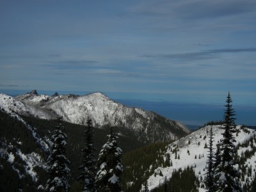
[[[85,124],[90,116],[93,125],[120,127],[133,131],[138,139],[154,143],[156,141],[175,140],[190,131],[184,125],[168,120],[154,112],[139,108],[128,108],[109,99],[103,93],[91,93],[84,96],[38,95],[36,90],[15,98],[0,95],[0,107],[21,115],[54,119],[63,116],[63,120],[73,124]]]

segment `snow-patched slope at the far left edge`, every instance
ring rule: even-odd
[[[40,138],[40,136],[38,136],[38,134],[36,133],[36,128],[28,125],[20,117],[19,114],[29,113],[28,109],[26,108],[26,106],[24,106],[24,104],[22,104],[22,102],[13,99],[13,97],[0,93],[0,111],[6,113],[6,115],[12,117],[15,120],[18,120],[20,124],[25,125],[25,129],[28,129],[28,132],[30,134],[27,134],[26,136],[28,136],[28,138],[30,136],[29,141],[35,142],[38,150],[49,152],[49,140],[47,140],[47,138]],[[2,121],[4,123],[1,124],[3,125],[1,129],[6,129],[6,125],[10,126],[6,118],[2,118]],[[5,124],[6,121],[7,124]],[[18,126],[20,127],[20,125]],[[11,129],[11,127],[12,126],[8,128]],[[44,163],[42,161],[43,158],[37,152],[23,153],[20,150],[20,147],[23,146],[24,148],[29,148],[29,146],[24,145],[23,141],[20,140],[20,138],[12,138],[12,140],[8,140],[2,136],[3,135],[0,136],[0,157],[2,158],[1,161],[3,162],[4,159],[7,159],[8,163],[10,163],[10,165],[12,166],[14,172],[16,172],[19,176],[19,179],[28,178],[29,175],[33,182],[37,182],[39,175],[38,173],[36,173],[36,170],[38,170],[38,167],[44,168]],[[33,140],[31,140],[31,138],[33,138]],[[0,169],[3,168],[4,167],[0,164]]]

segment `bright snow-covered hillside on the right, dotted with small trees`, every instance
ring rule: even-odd
[[[222,135],[223,129],[220,129],[220,125],[214,125],[212,126],[212,131],[214,132],[214,143],[213,146],[216,146],[216,143],[218,143]],[[172,161],[173,166],[162,168],[159,167],[155,170],[156,173],[161,172],[163,173],[163,176],[160,175],[151,175],[148,178],[148,186],[149,189],[156,188],[159,183],[164,182],[164,177],[166,176],[167,179],[170,179],[173,170],[179,170],[179,168],[186,168],[187,166],[193,166],[195,168],[196,175],[199,176],[199,178],[202,176],[202,179],[204,180],[205,177],[205,165],[207,161],[207,154],[208,154],[208,148],[205,148],[205,143],[209,143],[209,130],[211,126],[206,126],[198,131],[195,131],[188,136],[181,138],[180,140],[175,141],[171,145],[168,146],[167,153],[170,154],[170,161]],[[253,129],[247,129],[243,128],[240,125],[237,126],[237,130],[239,130],[237,133],[234,134],[236,138],[236,145],[238,147],[237,154],[239,157],[242,156],[242,154],[247,152],[252,152],[252,147],[256,147],[256,141],[255,136],[256,132]],[[246,143],[250,142],[250,146],[248,147],[245,145]],[[173,150],[177,148],[177,156],[179,156],[180,159],[175,159],[175,154],[173,153]],[[216,148],[216,147],[214,147]],[[249,168],[252,169],[256,168],[256,154],[254,154],[252,157],[249,157],[246,159],[245,163],[243,164],[245,168],[245,178],[241,178],[241,183],[244,185],[246,183],[246,180],[248,184],[252,183],[252,180],[255,178],[255,173],[252,172],[251,174],[248,174]],[[203,184],[203,182],[201,182]],[[201,188],[200,191],[205,191],[205,189]]]

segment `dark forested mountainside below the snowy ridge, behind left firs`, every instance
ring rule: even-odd
[[[12,115],[0,109],[0,191],[44,191],[47,173],[45,162],[49,156],[49,139],[56,120],[42,120],[29,116]],[[80,188],[77,177],[82,163],[84,125],[65,122],[67,128],[67,158],[71,170],[70,191]],[[117,132],[116,128],[113,128]],[[93,145],[99,150],[106,143],[109,129],[94,129]],[[118,136],[118,145],[124,152],[139,148],[145,143],[133,140],[132,132]],[[132,140],[132,142],[131,142]]]

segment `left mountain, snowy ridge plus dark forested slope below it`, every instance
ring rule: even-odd
[[[77,164],[82,162],[83,132],[88,118],[95,127],[95,154],[104,145],[109,127],[118,134],[124,152],[147,143],[176,140],[190,132],[179,122],[143,109],[127,108],[102,93],[48,96],[33,90],[15,98],[0,93],[0,191],[45,190],[49,179],[47,157],[58,116],[63,117],[67,128],[71,191],[81,188],[77,183]]]

